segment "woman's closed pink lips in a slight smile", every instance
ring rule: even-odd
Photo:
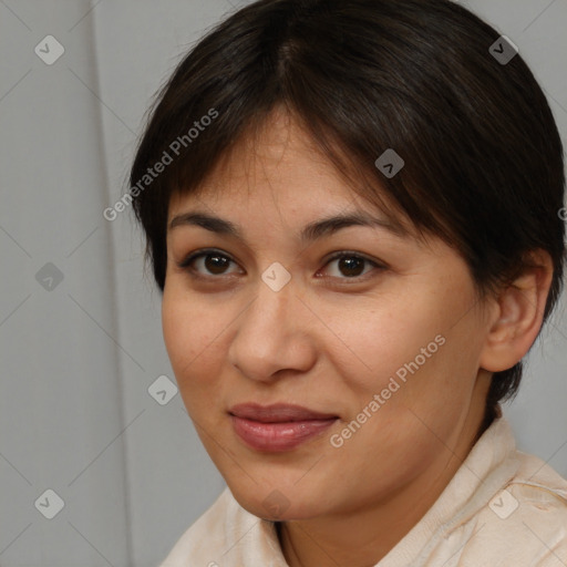
[[[318,435],[338,415],[315,412],[300,405],[238,404],[229,410],[237,435],[257,451],[289,451]]]

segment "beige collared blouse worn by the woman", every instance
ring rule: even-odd
[[[567,481],[495,420],[422,519],[375,567],[567,567]],[[161,567],[287,567],[276,525],[227,488]],[[312,567],[312,566],[309,566]]]

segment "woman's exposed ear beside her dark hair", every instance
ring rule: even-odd
[[[494,299],[480,359],[481,368],[489,372],[502,372],[522,360],[542,328],[554,265],[540,249],[530,251],[528,259],[532,266]]]

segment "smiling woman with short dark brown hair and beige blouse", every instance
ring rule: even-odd
[[[444,0],[260,0],[179,64],[131,186],[227,483],[163,567],[567,565],[567,482],[499,408],[565,258],[512,41]]]

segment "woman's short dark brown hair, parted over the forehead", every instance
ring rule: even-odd
[[[284,104],[341,171],[364,179],[354,190],[383,205],[380,186],[420,231],[457,249],[483,293],[517,277],[526,252],[547,250],[547,319],[565,261],[563,146],[522,56],[503,64],[489,52],[499,35],[449,0],[259,0],[225,19],[161,91],[131,172],[159,289],[173,192],[197,190]],[[392,178],[374,165],[388,148],[405,162]],[[173,163],[142,190],[165,154]],[[520,378],[522,361],[494,374],[488,421]]]

